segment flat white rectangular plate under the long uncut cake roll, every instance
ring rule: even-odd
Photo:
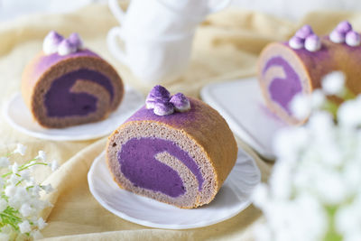
[[[287,125],[265,106],[255,77],[209,84],[200,96],[225,117],[245,143],[265,158],[274,159],[273,136]]]

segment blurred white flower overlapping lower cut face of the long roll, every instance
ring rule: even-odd
[[[290,109],[292,115],[299,120],[303,120],[310,116],[311,100],[309,96],[297,94],[292,98]]]

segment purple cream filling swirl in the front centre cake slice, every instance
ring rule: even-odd
[[[184,194],[185,188],[177,171],[155,159],[156,154],[163,152],[170,153],[183,162],[196,176],[201,190],[204,180],[197,163],[171,141],[149,137],[133,138],[122,145],[117,158],[121,171],[134,186],[160,191],[175,198]]]

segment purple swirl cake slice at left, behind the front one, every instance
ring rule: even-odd
[[[63,128],[105,119],[121,103],[124,86],[106,60],[83,47],[79,34],[65,39],[52,31],[23,71],[22,95],[40,125]]]

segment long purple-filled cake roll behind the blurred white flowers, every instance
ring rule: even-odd
[[[292,98],[321,88],[323,77],[335,70],[344,72],[347,88],[360,93],[360,63],[360,34],[350,23],[341,22],[322,37],[305,25],[289,42],[272,42],[264,48],[258,61],[258,81],[267,107],[284,122],[300,125],[307,118],[292,115]]]

